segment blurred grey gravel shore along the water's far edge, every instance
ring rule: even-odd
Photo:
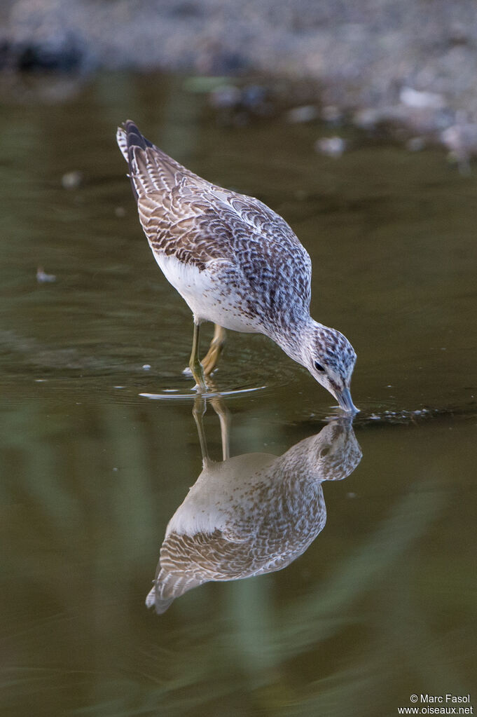
[[[311,80],[357,125],[477,147],[475,0],[4,0],[0,67]]]

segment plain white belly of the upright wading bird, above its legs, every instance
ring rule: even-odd
[[[154,252],[153,252],[154,253]],[[213,321],[223,328],[244,333],[261,333],[261,323],[256,317],[244,313],[244,300],[236,290],[221,281],[217,272],[218,262],[213,269],[203,271],[191,264],[183,264],[173,256],[156,255],[154,258],[166,279],[186,301],[194,320]]]

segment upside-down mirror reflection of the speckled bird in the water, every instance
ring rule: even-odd
[[[350,475],[361,460],[350,420],[327,424],[276,457],[246,453],[204,467],[170,519],[146,604],[209,580],[269,573],[300,556],[326,522],[321,483]]]

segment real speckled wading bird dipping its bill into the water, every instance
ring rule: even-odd
[[[225,329],[264,333],[305,366],[346,411],[356,354],[334,328],[309,315],[312,266],[284,219],[250,196],[193,174],[151,144],[135,124],[117,130],[140,222],[165,277],[193,312],[190,368],[198,386],[213,371]],[[198,358],[199,325],[216,331]]]

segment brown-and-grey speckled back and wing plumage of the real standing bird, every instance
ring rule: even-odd
[[[158,263],[161,255],[172,256],[208,272],[267,335],[274,334],[271,322],[279,329],[309,315],[311,261],[284,219],[259,199],[193,174],[145,140],[133,123],[119,130],[118,143]]]

